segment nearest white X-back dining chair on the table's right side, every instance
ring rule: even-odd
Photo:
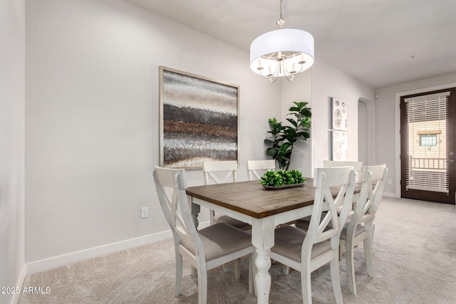
[[[315,198],[308,231],[281,226],[274,231],[271,258],[301,272],[303,303],[312,303],[311,272],[329,263],[336,303],[343,303],[339,278],[339,238],[353,200],[353,167],[317,168]],[[340,187],[336,198],[331,187]],[[343,206],[340,214],[337,206]],[[323,213],[323,209],[328,209]]]

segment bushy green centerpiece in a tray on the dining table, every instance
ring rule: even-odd
[[[297,170],[270,170],[261,177],[261,184],[266,189],[283,189],[289,187],[301,187],[306,183],[302,173]]]

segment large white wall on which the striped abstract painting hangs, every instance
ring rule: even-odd
[[[169,230],[152,182],[159,65],[240,85],[239,178],[247,159],[264,159],[281,90],[246,51],[123,0],[31,0],[26,19],[28,273]],[[202,184],[200,170],[187,176]]]

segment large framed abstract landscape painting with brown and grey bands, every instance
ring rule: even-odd
[[[239,86],[160,66],[160,165],[237,160]]]

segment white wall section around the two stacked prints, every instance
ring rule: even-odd
[[[374,90],[328,63],[316,60],[312,67],[312,164],[331,159],[330,98],[345,100],[348,111],[347,160],[358,160],[358,100],[374,100]]]

